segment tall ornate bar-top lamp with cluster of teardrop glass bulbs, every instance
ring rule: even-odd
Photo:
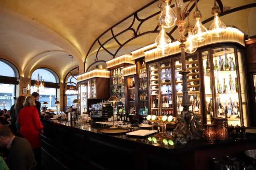
[[[192,111],[188,110],[189,106],[189,96],[188,96],[188,86],[187,86],[187,74],[190,72],[186,68],[185,63],[185,50],[188,53],[193,53],[197,49],[197,43],[203,42],[207,36],[208,36],[208,30],[204,27],[204,25],[201,23],[200,18],[202,17],[201,12],[198,10],[197,7],[197,0],[190,0],[187,5],[185,5],[184,9],[182,10],[183,6],[183,0],[174,0],[175,9],[170,7],[170,3],[172,0],[163,0],[165,2],[165,7],[162,7],[162,4],[159,4],[158,7],[161,8],[161,13],[158,17],[158,26],[161,28],[159,31],[159,35],[155,39],[155,44],[157,46],[157,50],[161,55],[165,55],[169,53],[170,47],[169,44],[171,42],[170,37],[166,34],[165,28],[170,28],[173,25],[177,25],[178,32],[180,33],[180,37],[178,38],[178,41],[180,42],[180,49],[181,49],[181,64],[182,64],[182,71],[179,73],[182,75],[182,106],[183,111],[181,112],[181,121],[179,123],[181,124],[181,127],[184,129],[182,131],[176,129],[177,133],[174,133],[174,137],[182,136],[182,143],[187,143],[187,140],[191,140],[194,138],[202,138],[202,133],[199,133],[197,130],[195,130],[194,127],[190,127],[190,122],[192,115],[196,116]],[[196,5],[196,11],[193,13],[193,18],[196,20],[195,27],[192,29],[191,25],[188,24],[187,30],[189,38],[185,37],[185,17],[187,17],[189,11],[188,7],[189,5],[195,1]],[[211,35],[212,36],[222,36],[223,33],[225,33],[225,24],[221,22],[221,20],[218,17],[218,13],[221,12],[219,10],[219,7],[216,5],[216,1],[214,0],[214,7],[212,8],[211,13],[214,15],[214,22],[211,25]],[[224,31],[223,31],[224,30]],[[193,43],[193,41],[196,41],[197,43]],[[188,47],[186,47],[186,44]],[[186,49],[187,48],[187,49]],[[182,124],[185,123],[185,126],[182,126]],[[192,125],[195,126],[195,125]],[[185,127],[185,128],[184,128]],[[193,131],[190,131],[190,129],[193,129]],[[175,129],[174,129],[175,131]]]

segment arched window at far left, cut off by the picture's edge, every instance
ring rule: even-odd
[[[4,59],[0,59],[0,68],[0,109],[10,110],[11,106],[15,104],[19,72],[12,63]]]

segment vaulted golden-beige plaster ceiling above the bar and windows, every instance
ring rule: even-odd
[[[184,1],[186,3],[187,0]],[[255,0],[217,1],[225,10],[255,3]],[[145,20],[139,29],[140,21],[136,19],[132,27],[136,35],[132,30],[125,31],[116,36],[116,40],[111,39],[104,44],[103,47],[108,52],[101,48],[101,44],[129,27],[134,15],[117,24],[112,31],[106,30],[151,2],[151,5],[137,13],[139,19],[159,12],[157,4],[162,3],[162,0],[1,0],[0,58],[13,61],[25,77],[29,76],[34,68],[49,66],[58,72],[60,79],[63,79],[71,69],[69,54],[74,56],[73,66],[79,66],[79,70],[83,71],[85,59],[87,70],[95,63],[95,59],[106,61],[113,58],[110,53],[117,56],[152,43],[157,36],[156,32],[138,35],[155,30],[158,15]],[[199,0],[198,5],[203,14],[202,20],[212,16],[210,10],[213,0]],[[256,34],[255,17],[254,7],[221,16],[221,20],[252,36]],[[210,22],[205,23],[206,27],[209,25]],[[172,29],[168,29],[167,32],[171,32]],[[104,31],[106,33],[102,34]],[[177,39],[178,32],[173,31],[169,35]],[[99,41],[93,44],[98,37]],[[135,38],[128,42],[133,37]],[[124,45],[121,47],[120,44]],[[91,68],[93,67],[94,65]]]

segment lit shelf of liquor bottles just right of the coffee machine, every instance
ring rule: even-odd
[[[125,99],[124,99],[123,67],[119,67],[111,70],[110,75],[111,75],[111,78],[110,78],[111,96],[116,96],[118,98],[118,102],[120,102],[121,104],[124,104]]]

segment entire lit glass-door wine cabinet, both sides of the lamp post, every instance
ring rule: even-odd
[[[211,123],[211,117],[223,117],[228,119],[228,124],[247,126],[243,49],[236,43],[215,43],[186,54],[186,67],[190,71],[187,75],[189,110],[201,114],[204,123]],[[180,115],[180,54],[147,62],[147,70],[151,115]]]

